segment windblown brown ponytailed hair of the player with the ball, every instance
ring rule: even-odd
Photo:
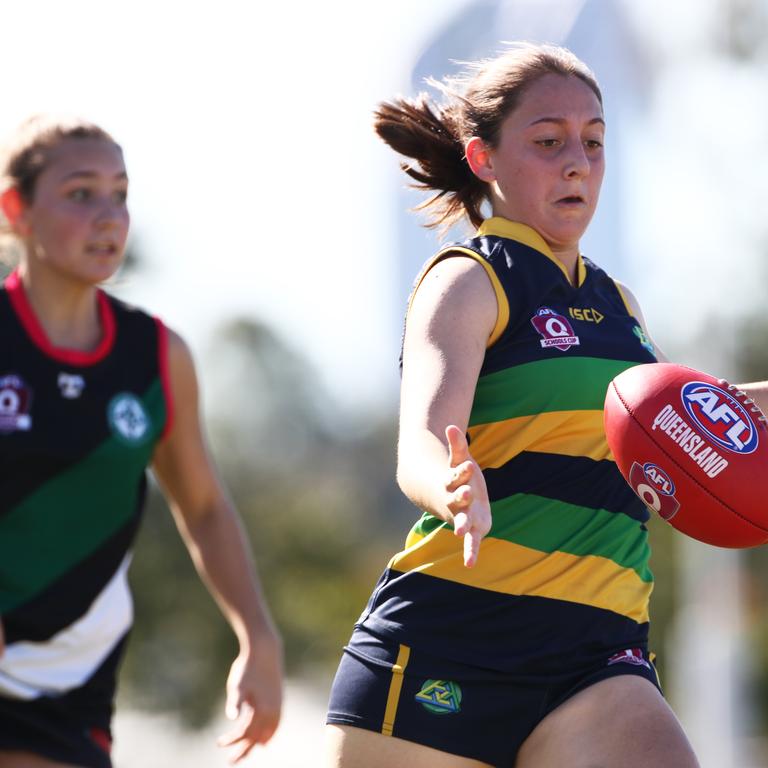
[[[445,97],[435,104],[421,93],[414,99],[382,102],[374,113],[376,133],[392,149],[416,161],[400,167],[417,183],[417,189],[435,194],[416,206],[428,210],[427,227],[448,229],[462,216],[479,226],[480,206],[488,187],[467,163],[464,144],[473,136],[496,147],[504,119],[520,103],[532,83],[547,74],[574,76],[603,97],[597,79],[567,48],[513,43],[493,59],[473,62],[456,77],[427,83]]]

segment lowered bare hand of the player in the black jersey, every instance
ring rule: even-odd
[[[233,729],[218,740],[237,763],[277,730],[282,705],[282,650],[274,634],[256,642],[232,663],[227,679],[226,715]]]

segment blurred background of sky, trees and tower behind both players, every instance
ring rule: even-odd
[[[282,630],[274,742],[317,763],[328,687],[416,516],[394,483],[408,289],[438,247],[375,138],[378,101],[502,41],[562,43],[605,95],[608,173],[583,243],[674,360],[768,377],[768,0],[2,3],[3,107],[123,145],[133,215],[112,290],[190,342],[218,465]],[[653,647],[703,768],[768,765],[768,554],[652,523]],[[164,503],[133,566],[117,768],[224,765],[234,652]]]

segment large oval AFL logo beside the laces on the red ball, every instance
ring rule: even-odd
[[[689,381],[680,391],[683,406],[694,423],[722,448],[733,453],[753,453],[758,437],[745,408],[724,389]]]

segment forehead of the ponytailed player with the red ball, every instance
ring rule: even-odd
[[[547,74],[526,88],[509,117],[520,127],[545,118],[587,123],[602,119],[603,109],[595,92],[581,78]]]

